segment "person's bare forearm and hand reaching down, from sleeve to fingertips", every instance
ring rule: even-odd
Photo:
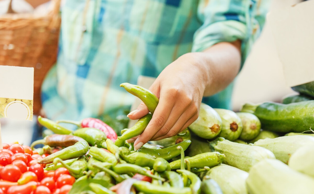
[[[203,96],[215,94],[236,77],[241,64],[241,42],[221,42],[203,52],[187,53],[168,65],[149,88],[159,104],[144,132],[134,141],[140,148],[149,140],[172,137],[198,118]],[[128,117],[139,119],[149,112],[141,103]]]

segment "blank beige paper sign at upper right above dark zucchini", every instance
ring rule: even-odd
[[[314,81],[313,10],[314,1],[305,1],[267,17],[289,87]]]

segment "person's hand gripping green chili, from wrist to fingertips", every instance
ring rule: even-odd
[[[159,98],[159,103],[144,132],[128,141],[134,141],[135,149],[149,140],[175,136],[198,118],[207,79],[202,65],[193,56],[189,53],[172,62],[149,88]],[[142,102],[128,117],[136,120],[148,112]]]

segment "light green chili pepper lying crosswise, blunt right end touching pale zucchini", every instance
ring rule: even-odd
[[[185,158],[190,162],[191,168],[204,168],[205,166],[212,167],[219,165],[225,159],[225,154],[220,154],[219,152],[205,152],[202,154],[198,154],[189,158]],[[181,160],[175,160],[170,163],[171,169],[179,169],[181,164]],[[187,168],[187,164],[185,163],[185,168]]]

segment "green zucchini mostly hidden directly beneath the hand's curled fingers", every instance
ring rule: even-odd
[[[190,140],[190,139],[191,139],[191,133],[189,132],[188,129],[185,129],[176,136],[168,137],[165,139],[160,139],[157,141],[151,141],[151,143],[161,145],[167,148],[169,146],[173,146],[173,145],[176,145],[177,143],[183,142],[184,140]]]

